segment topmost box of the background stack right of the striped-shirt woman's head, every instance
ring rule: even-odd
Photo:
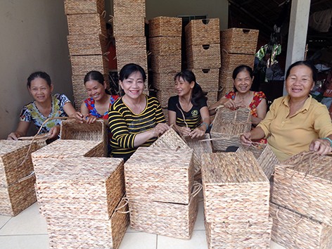
[[[148,22],[149,37],[181,37],[182,18],[158,16]]]

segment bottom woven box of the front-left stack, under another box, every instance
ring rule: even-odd
[[[110,219],[46,217],[50,248],[119,248],[129,214],[123,202],[117,209]]]

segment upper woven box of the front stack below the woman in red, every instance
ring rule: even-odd
[[[206,222],[264,222],[269,217],[269,181],[253,153],[202,155]]]

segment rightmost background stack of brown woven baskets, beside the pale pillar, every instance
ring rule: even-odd
[[[222,67],[219,73],[219,96],[233,91],[233,70],[238,65],[254,66],[258,30],[231,28],[220,32]]]

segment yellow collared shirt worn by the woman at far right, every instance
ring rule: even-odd
[[[288,101],[289,96],[274,100],[267,116],[257,125],[263,129],[267,143],[281,161],[308,151],[312,140],[332,134],[326,106],[309,96],[303,107],[288,117]]]

